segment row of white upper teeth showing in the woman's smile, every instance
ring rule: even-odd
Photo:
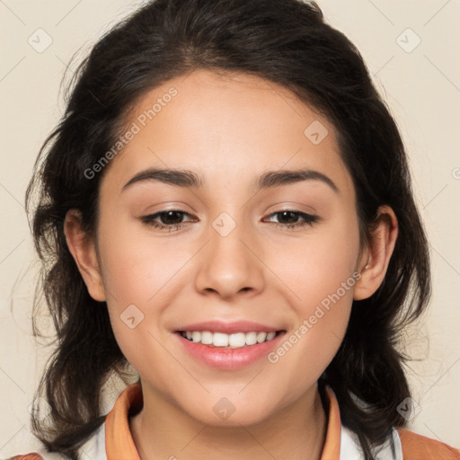
[[[276,332],[236,332],[234,334],[209,331],[181,332],[182,337],[187,338],[189,341],[230,349],[240,349],[247,345],[271,341],[276,334]]]

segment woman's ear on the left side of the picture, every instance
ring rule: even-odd
[[[84,232],[82,217],[77,209],[70,209],[66,213],[64,233],[68,249],[74,257],[90,296],[103,302],[106,296],[93,237]]]

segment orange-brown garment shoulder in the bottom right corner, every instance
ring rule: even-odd
[[[443,442],[418,435],[409,429],[398,429],[404,460],[459,460],[460,450]]]

